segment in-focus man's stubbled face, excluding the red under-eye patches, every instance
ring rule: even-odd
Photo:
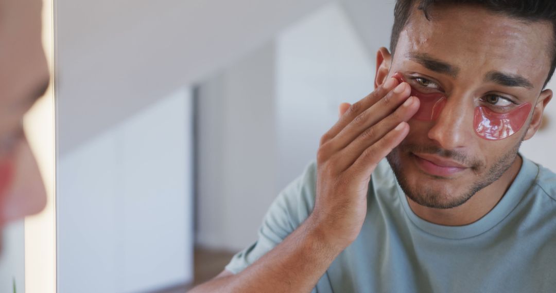
[[[409,198],[453,208],[498,180],[538,129],[552,97],[542,87],[553,29],[474,6],[434,7],[430,15],[413,11],[388,75],[399,72],[420,92],[443,93],[446,104],[435,120],[411,119],[408,137],[388,159]],[[488,140],[475,133],[477,107],[507,113],[524,103],[533,109],[515,134]]]

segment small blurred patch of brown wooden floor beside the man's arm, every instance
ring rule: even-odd
[[[219,251],[203,249],[202,247],[195,248],[195,254],[193,255],[194,269],[195,269],[195,280],[193,284],[184,284],[181,286],[168,288],[166,290],[155,291],[152,293],[183,293],[191,289],[197,284],[208,281],[212,277],[220,274],[224,267],[230,262],[234,256],[234,252],[229,251]]]

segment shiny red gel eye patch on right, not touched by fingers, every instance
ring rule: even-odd
[[[485,107],[477,107],[473,121],[475,133],[487,140],[507,138],[523,127],[532,107],[531,103],[525,103],[508,113],[496,113]]]

